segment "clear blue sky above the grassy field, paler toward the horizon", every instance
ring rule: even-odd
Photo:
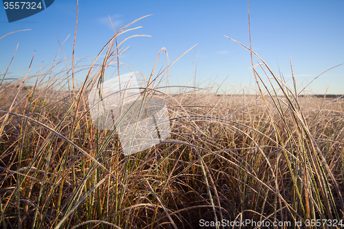
[[[325,70],[344,63],[343,10],[344,1],[250,1],[252,50],[276,74],[279,63],[287,80],[291,76],[292,58],[297,85],[301,88]],[[247,1],[80,1],[75,57],[96,58],[114,34],[109,16],[118,30],[120,25],[148,14],[153,15],[131,25],[142,28],[118,37],[122,41],[133,34],[151,36],[135,37],[124,43],[123,47],[129,46],[129,50],[120,56],[120,62],[133,71],[149,76],[162,47],[166,48],[171,63],[197,44],[170,67],[170,85],[192,82],[194,58],[200,87],[223,83],[226,93],[238,93],[240,84],[255,87],[252,69],[248,69],[250,52],[224,37],[249,45]],[[62,43],[69,34],[63,50],[71,58],[75,21],[76,1],[70,0],[55,0],[43,12],[12,23],[8,23],[5,10],[0,10],[0,37],[31,29],[0,40],[0,74],[6,72],[18,43],[8,78],[25,76],[34,51],[31,74],[39,71],[42,61],[43,66],[51,67],[59,47],[57,38]],[[61,51],[57,60],[63,60]],[[254,62],[260,63],[257,58]],[[84,61],[80,65],[89,63]],[[160,57],[155,73],[164,67],[165,54]],[[130,72],[125,66],[120,71]],[[85,74],[80,73],[77,78],[83,80]],[[291,85],[291,80],[288,83]],[[343,85],[344,65],[320,76],[306,91],[344,94]]]

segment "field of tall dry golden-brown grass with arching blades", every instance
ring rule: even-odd
[[[81,85],[74,60],[1,83],[0,227],[202,228],[202,220],[250,219],[306,228],[318,219],[310,228],[340,228],[330,222],[344,216],[343,98],[298,96],[268,65],[258,66],[266,76],[255,72],[266,91],[257,96],[168,95],[153,69],[144,91],[164,96],[171,135],[125,156],[116,131],[94,128],[87,91],[117,65],[117,36],[128,29],[105,45],[104,59],[82,67]],[[269,80],[278,87],[266,89]]]

